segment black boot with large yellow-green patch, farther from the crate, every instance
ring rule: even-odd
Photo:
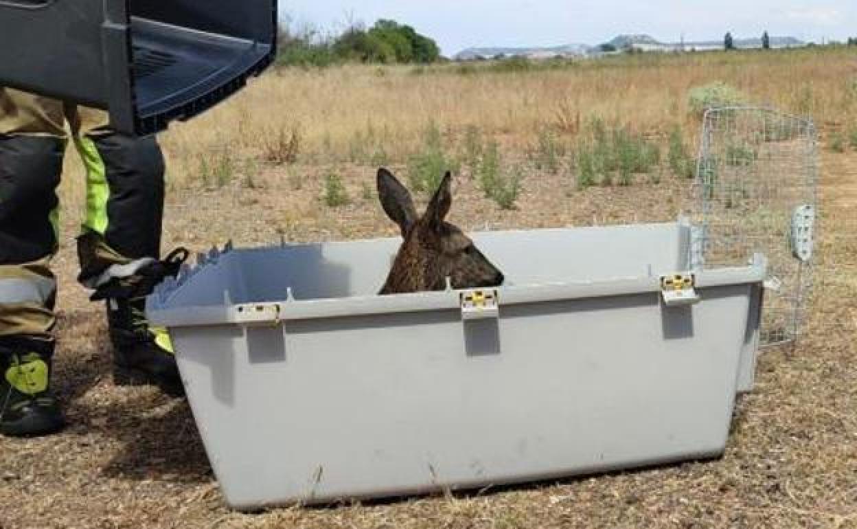
[[[51,394],[53,344],[20,340],[0,346],[0,434],[46,436],[63,430],[65,419]]]

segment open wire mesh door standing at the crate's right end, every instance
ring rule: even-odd
[[[797,340],[812,288],[818,141],[812,120],[770,108],[705,112],[696,196],[694,268],[769,260],[761,343]]]

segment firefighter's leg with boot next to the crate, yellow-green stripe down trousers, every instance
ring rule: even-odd
[[[117,134],[105,114],[88,109],[72,129],[87,167],[79,279],[107,305],[114,378],[183,394],[169,335],[145,315],[146,296],[180,264],[159,261],[165,169],[158,142]]]

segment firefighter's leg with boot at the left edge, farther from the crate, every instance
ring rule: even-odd
[[[60,430],[50,390],[63,105],[0,87],[0,434]]]

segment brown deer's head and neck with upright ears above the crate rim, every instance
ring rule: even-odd
[[[378,171],[378,197],[405,239],[381,294],[500,286],[503,274],[458,227],[446,222],[452,206],[452,175],[446,173],[423,217],[411,194],[390,171]]]

